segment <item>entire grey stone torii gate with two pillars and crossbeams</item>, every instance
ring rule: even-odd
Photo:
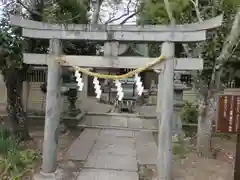
[[[47,102],[45,115],[45,130],[43,143],[42,172],[52,173],[56,170],[58,126],[60,120],[60,85],[61,70],[56,57],[61,56],[71,65],[80,67],[105,67],[105,68],[139,68],[143,67],[153,58],[148,57],[118,57],[116,51],[111,51],[114,44],[137,42],[163,42],[161,53],[166,60],[157,64],[153,69],[160,70],[158,85],[158,110],[159,118],[158,138],[158,174],[161,180],[171,179],[171,146],[172,146],[172,114],[173,114],[173,78],[174,70],[201,70],[203,60],[198,58],[174,58],[174,42],[196,42],[206,40],[206,30],[216,28],[222,23],[222,16],[193,24],[164,26],[147,25],[144,27],[133,25],[80,25],[80,24],[48,24],[37,21],[25,20],[21,17],[11,16],[11,24],[22,27],[22,35],[28,38],[50,39],[49,54],[24,53],[24,62],[34,65],[48,65],[47,76]],[[73,56],[61,53],[60,40],[89,40],[105,43],[104,56]],[[115,42],[115,43],[112,43]],[[115,47],[116,50],[116,47]],[[109,57],[110,56],[110,57]],[[160,91],[161,90],[161,91]],[[160,93],[161,92],[161,93]],[[161,104],[160,104],[161,103]],[[161,109],[161,110],[160,110]],[[159,119],[159,122],[160,122]]]

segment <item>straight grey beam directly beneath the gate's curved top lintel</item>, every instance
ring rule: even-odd
[[[138,41],[138,42],[196,42],[206,40],[206,30],[202,31],[162,31],[162,32],[130,32],[130,31],[112,31],[112,32],[86,32],[76,30],[42,30],[23,28],[22,35],[29,38],[41,39],[68,39],[68,40],[92,40],[92,41]]]

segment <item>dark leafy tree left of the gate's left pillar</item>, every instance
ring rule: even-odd
[[[23,38],[19,28],[8,24],[8,15],[19,10],[16,4],[5,5],[0,24],[0,68],[7,88],[7,112],[10,129],[16,136],[29,139],[26,113],[22,106],[22,82],[27,66],[22,63]]]

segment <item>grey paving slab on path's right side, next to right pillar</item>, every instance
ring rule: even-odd
[[[151,132],[136,132],[137,161],[140,165],[157,163],[157,144]]]

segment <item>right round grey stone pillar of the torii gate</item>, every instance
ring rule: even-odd
[[[164,88],[161,90],[161,115],[158,117],[158,178],[159,180],[171,180],[172,177],[172,115],[174,104],[174,43],[164,42],[162,44],[161,53],[166,57],[163,62],[164,67],[161,73],[159,73],[158,91],[160,91],[160,83],[164,84]],[[161,121],[159,119],[161,117]]]

